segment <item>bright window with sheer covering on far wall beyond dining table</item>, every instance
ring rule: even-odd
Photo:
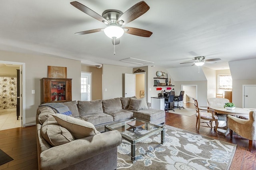
[[[219,74],[218,75],[218,93],[224,94],[224,91],[232,91],[231,74]]]

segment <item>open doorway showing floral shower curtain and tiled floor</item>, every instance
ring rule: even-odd
[[[2,68],[2,69],[1,69]],[[17,69],[20,70],[20,96],[17,96]],[[1,104],[1,106],[4,106],[0,108],[0,130],[3,129],[11,129],[15,127],[25,127],[25,95],[23,95],[22,100],[22,94],[25,91],[25,83],[23,82],[24,80],[24,72],[25,71],[25,63],[17,63],[17,62],[10,62],[10,61],[0,61],[0,76],[5,77],[3,80],[1,80],[0,84],[3,86],[7,86],[8,84],[15,84],[15,87],[10,87],[9,90],[12,92],[7,92],[6,89],[1,89],[2,92],[4,92],[4,96],[1,96],[1,101],[4,102],[5,106]],[[23,74],[22,74],[23,73]],[[8,81],[10,79],[10,81]],[[1,86],[1,87],[3,87]],[[7,93],[6,93],[7,92]],[[10,95],[10,96],[8,96]],[[18,117],[17,120],[17,97],[20,98],[20,116]],[[5,99],[3,101],[2,99]],[[15,106],[15,107],[14,107]],[[22,120],[23,118],[23,120]]]

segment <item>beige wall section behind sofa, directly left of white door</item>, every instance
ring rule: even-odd
[[[102,99],[124,96],[124,73],[132,74],[132,68],[103,64]],[[107,91],[106,91],[107,90]]]

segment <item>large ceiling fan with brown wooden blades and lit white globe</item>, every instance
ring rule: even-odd
[[[107,25],[106,28],[98,28],[75,33],[77,35],[104,31],[104,33],[112,39],[113,45],[118,45],[120,43],[119,38],[123,35],[123,33],[137,35],[141,37],[150,37],[152,35],[152,32],[144,29],[134,27],[122,27],[130,21],[133,21],[136,18],[142,16],[149,10],[150,7],[144,1],[138,2],[124,13],[119,10],[105,10],[102,13],[102,16],[77,1],[70,2],[70,4],[76,7],[78,10],[91,16],[92,18],[95,18],[96,20],[101,21]]]

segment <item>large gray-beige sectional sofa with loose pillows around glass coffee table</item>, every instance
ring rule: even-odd
[[[122,142],[122,136],[118,131],[101,133],[105,125],[134,117],[153,124],[164,123],[165,119],[165,111],[151,109],[145,98],[62,104],[68,106],[72,115],[56,113],[48,106],[37,109],[38,168],[42,170],[114,170],[117,168],[117,147]]]

